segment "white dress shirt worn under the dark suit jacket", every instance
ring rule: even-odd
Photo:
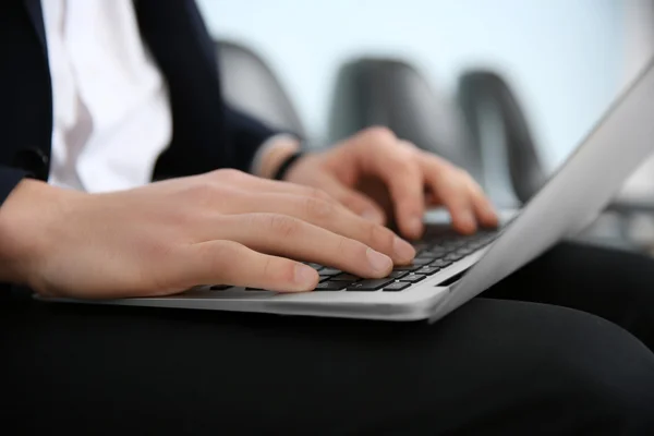
[[[132,0],[41,0],[41,7],[55,112],[49,182],[87,192],[149,182],[172,120]]]

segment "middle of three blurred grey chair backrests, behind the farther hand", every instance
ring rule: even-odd
[[[399,137],[465,168],[480,171],[480,153],[472,148],[457,107],[439,96],[424,76],[399,59],[363,58],[337,74],[331,104],[330,140],[361,129],[385,125]]]

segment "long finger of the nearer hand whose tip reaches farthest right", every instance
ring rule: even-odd
[[[275,213],[299,218],[334,233],[360,241],[386,254],[396,264],[408,264],[415,250],[386,227],[371,222],[338,203],[289,194],[249,194],[233,198],[239,214]]]

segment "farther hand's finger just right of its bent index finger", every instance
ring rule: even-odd
[[[455,229],[462,233],[474,232],[477,225],[464,173],[436,156],[426,156],[422,165],[434,197],[448,209]]]

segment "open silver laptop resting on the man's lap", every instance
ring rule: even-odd
[[[653,148],[654,60],[521,210],[504,214],[498,229],[468,237],[426,214],[414,263],[385,279],[363,280],[311,264],[320,275],[312,292],[216,283],[170,296],[84,303],[436,322],[589,226]]]

